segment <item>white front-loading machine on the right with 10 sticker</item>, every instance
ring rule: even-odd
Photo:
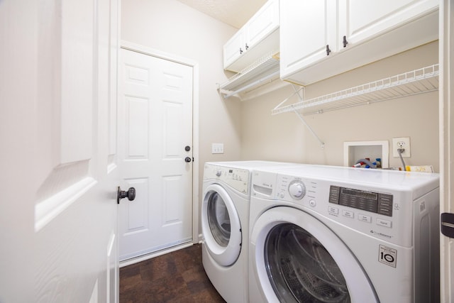
[[[254,172],[250,302],[439,302],[439,175]]]

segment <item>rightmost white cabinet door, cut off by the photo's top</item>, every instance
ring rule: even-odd
[[[359,43],[437,7],[438,0],[339,0],[339,35],[346,35],[349,45]]]

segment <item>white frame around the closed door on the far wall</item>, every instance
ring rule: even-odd
[[[185,57],[165,53],[126,40],[121,40],[120,48],[192,67],[192,156],[195,160],[192,162],[192,243],[199,243],[199,63]],[[121,79],[118,79],[118,81],[121,81]],[[177,249],[179,248],[181,248],[181,246],[177,247]],[[173,250],[175,250],[175,248]],[[172,248],[165,250],[165,252],[170,251],[172,251]],[[147,256],[150,258],[150,255],[155,256],[160,254],[162,254],[162,252],[150,253],[144,256],[144,258],[135,258],[134,263],[138,262],[138,259],[146,260]],[[122,267],[129,264],[130,262],[121,263],[120,266]]]

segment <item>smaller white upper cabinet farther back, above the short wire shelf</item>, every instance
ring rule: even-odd
[[[269,0],[223,47],[224,69],[240,72],[279,51],[279,0]]]

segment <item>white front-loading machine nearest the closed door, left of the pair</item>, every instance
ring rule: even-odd
[[[219,294],[248,301],[249,203],[252,171],[291,165],[268,161],[206,162],[201,205],[202,262]]]

